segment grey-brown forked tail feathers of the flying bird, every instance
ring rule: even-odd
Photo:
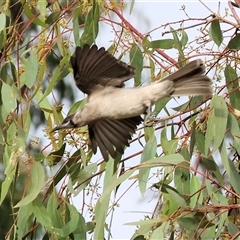
[[[177,72],[162,79],[162,81],[172,81],[172,96],[183,95],[211,95],[212,81],[204,75],[205,65],[202,60],[194,60],[179,69]]]

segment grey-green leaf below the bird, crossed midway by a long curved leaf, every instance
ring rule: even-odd
[[[141,156],[141,163],[146,162],[149,159],[154,158],[157,151],[157,141],[153,134],[151,138],[147,141]],[[146,191],[146,186],[148,182],[150,168],[143,168],[139,170],[138,182],[140,192],[143,194]]]

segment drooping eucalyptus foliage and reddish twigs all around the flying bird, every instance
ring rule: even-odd
[[[125,199],[133,189],[149,188],[155,210],[145,213],[142,202],[144,217],[125,221],[134,226],[131,239],[239,236],[238,2],[194,3],[204,17],[182,6],[183,18],[144,32],[134,25],[148,25],[137,4],[1,2],[1,239],[119,238],[127,226],[112,235],[116,211],[134,200]],[[165,13],[166,5],[156,6]],[[112,54],[136,67],[129,86],[202,58],[215,93],[158,102],[153,111],[161,118],[140,127],[131,151],[107,163],[92,156],[86,127],[50,133],[84,104],[73,94],[75,45],[98,43],[101,34]]]

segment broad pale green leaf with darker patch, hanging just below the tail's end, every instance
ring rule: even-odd
[[[213,152],[221,145],[227,127],[228,109],[225,100],[221,96],[214,96],[210,103],[212,109],[207,122],[205,155],[208,155],[209,147],[213,141]]]

